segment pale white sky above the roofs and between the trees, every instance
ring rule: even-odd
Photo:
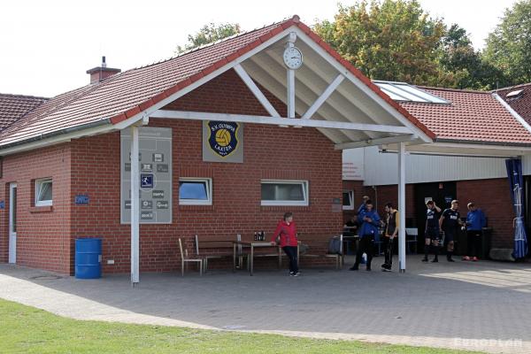
[[[504,10],[516,0],[419,0],[432,17],[458,23],[481,49]],[[344,0],[343,5],[354,4]],[[242,30],[300,16],[311,26],[334,19],[337,1],[253,2],[171,0],[46,0],[0,3],[0,93],[56,96],[89,83],[106,56],[125,71],[171,58],[206,23],[239,23]]]

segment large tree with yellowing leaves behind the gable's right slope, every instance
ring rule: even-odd
[[[416,0],[340,4],[335,20],[314,30],[371,79],[445,87],[459,81],[439,63],[443,20],[429,18]]]

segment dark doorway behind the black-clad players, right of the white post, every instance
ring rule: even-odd
[[[457,199],[455,181],[415,184],[415,211],[419,227],[419,251],[424,250],[424,230],[426,229],[426,202],[432,199],[442,210],[450,208],[452,199]]]

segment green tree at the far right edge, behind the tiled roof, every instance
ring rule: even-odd
[[[531,81],[531,0],[521,0],[505,11],[487,38],[484,56],[513,85]]]

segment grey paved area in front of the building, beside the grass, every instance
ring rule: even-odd
[[[373,268],[382,259],[375,258]],[[407,273],[303,269],[141,274],[80,281],[0,265],[0,297],[75,319],[531,352],[531,265],[422,264]],[[58,278],[58,279],[57,279]]]

